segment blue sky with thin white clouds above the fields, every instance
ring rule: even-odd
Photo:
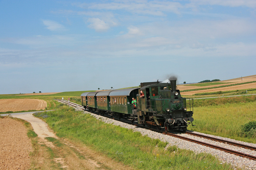
[[[255,75],[255,0],[0,0],[0,94]]]

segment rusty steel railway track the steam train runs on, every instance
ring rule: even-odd
[[[68,101],[64,101],[64,100],[60,100],[60,99],[58,99],[58,100],[62,101],[64,103],[67,103],[70,106],[73,106],[73,107],[82,109],[84,111],[87,111],[86,109],[84,109],[79,104],[68,102]],[[102,116],[104,116],[104,115],[102,115]],[[179,138],[179,139],[183,139],[183,140],[187,140],[187,141],[190,141],[190,142],[198,143],[200,145],[204,145],[204,146],[207,146],[207,147],[210,147],[210,148],[218,149],[218,150],[230,153],[230,154],[235,154],[235,155],[238,155],[238,156],[241,156],[241,157],[248,158],[248,159],[256,161],[256,156],[253,156],[253,155],[249,155],[249,154],[238,152],[238,151],[231,150],[231,149],[228,149],[228,148],[212,145],[210,143],[206,143],[206,142],[202,142],[202,141],[199,141],[199,140],[187,138],[187,137],[180,136],[180,135],[177,135],[177,134],[166,133],[166,132],[163,132],[161,130],[157,130],[157,129],[154,129],[154,128],[149,128],[149,127],[146,127],[146,126],[143,126],[143,125],[140,125],[140,124],[135,124],[135,123],[127,122],[127,121],[116,119],[116,118],[111,118],[109,116],[105,116],[105,117],[108,117],[110,119],[114,119],[114,120],[117,120],[117,121],[121,121],[121,122],[124,122],[124,123],[128,123],[128,124],[131,124],[131,125],[135,125],[135,126],[138,126],[138,127],[146,128],[146,129],[152,130],[154,132],[158,132],[158,133],[162,133],[162,134],[165,134],[165,135],[173,136],[173,137],[176,137],[176,138]],[[256,151],[256,147],[249,146],[249,145],[244,145],[244,144],[241,144],[241,143],[236,143],[236,142],[232,142],[232,141],[228,141],[228,140],[218,139],[218,138],[210,137],[210,136],[206,136],[206,135],[200,135],[200,134],[196,134],[196,133],[192,133],[192,132],[186,132],[186,134],[197,136],[197,137],[201,137],[201,138],[206,138],[206,139],[210,139],[210,140],[226,143],[226,144],[229,144],[229,145],[233,145],[233,146],[242,147],[242,148],[245,148],[245,149],[250,149],[250,150]]]

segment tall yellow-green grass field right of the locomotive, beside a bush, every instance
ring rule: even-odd
[[[194,101],[194,122],[189,130],[256,143],[246,138],[241,125],[256,120],[256,96],[241,96]]]

